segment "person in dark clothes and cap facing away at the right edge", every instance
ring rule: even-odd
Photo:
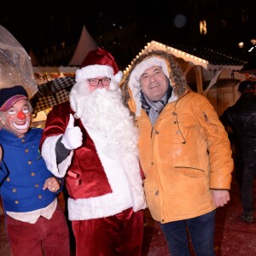
[[[256,174],[256,90],[255,82],[241,81],[238,86],[240,93],[235,105],[227,108],[220,117],[225,127],[230,127],[236,142],[235,167],[239,175],[241,218],[247,223],[254,221],[253,216],[253,183]],[[237,161],[238,159],[238,161]],[[242,168],[236,166],[242,163]]]

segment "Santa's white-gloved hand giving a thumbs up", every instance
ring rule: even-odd
[[[82,145],[83,142],[83,134],[79,126],[74,126],[74,118],[73,115],[69,115],[69,121],[67,125],[67,129],[63,134],[61,143],[67,149],[76,149]]]

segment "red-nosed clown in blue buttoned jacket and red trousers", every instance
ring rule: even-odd
[[[0,119],[0,194],[12,255],[69,256],[57,201],[61,185],[38,150],[43,130],[30,128],[32,106],[23,86],[0,90]]]

